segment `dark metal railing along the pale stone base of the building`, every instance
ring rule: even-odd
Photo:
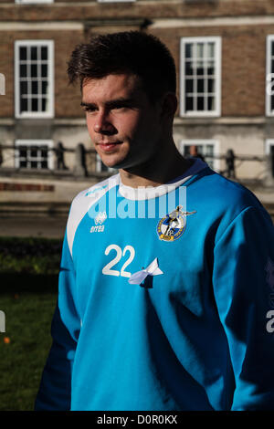
[[[24,154],[25,151],[25,154]],[[26,157],[28,152],[33,152],[28,159],[28,166],[23,165],[22,158]],[[40,151],[40,162],[38,162],[37,153]],[[23,153],[23,157],[22,157]],[[67,157],[70,157],[67,162]],[[48,159],[51,157],[51,167]],[[225,154],[204,155],[205,162],[214,160],[223,160],[224,168],[218,171],[228,178],[237,180],[237,172],[243,162],[260,162],[263,166],[261,179],[270,185],[274,185],[274,152],[269,155],[241,155],[236,154],[229,149]],[[44,160],[44,162],[43,162]],[[20,163],[21,162],[21,163]],[[32,164],[31,164],[32,162]],[[25,162],[26,164],[26,162]],[[69,164],[69,165],[68,165]],[[31,165],[31,166],[30,166]],[[37,167],[36,167],[37,166]],[[98,168],[100,166],[100,168]],[[17,144],[3,144],[0,142],[0,174],[16,172],[22,174],[46,173],[68,175],[74,177],[106,176],[111,175],[113,170],[103,166],[97,159],[97,153],[94,149],[87,149],[83,143],[78,143],[75,148],[68,148],[58,141],[53,148],[47,146],[25,146]],[[256,179],[256,177],[254,177]]]

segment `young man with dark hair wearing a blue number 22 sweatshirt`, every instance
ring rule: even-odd
[[[141,32],[93,37],[68,76],[119,173],[71,204],[36,409],[273,408],[273,225],[177,151],[169,51]]]

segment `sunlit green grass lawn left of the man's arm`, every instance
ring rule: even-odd
[[[33,410],[51,343],[55,302],[54,293],[0,297],[6,325],[5,333],[0,333],[0,411]]]

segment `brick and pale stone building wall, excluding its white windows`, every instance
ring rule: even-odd
[[[271,0],[137,0],[98,3],[56,0],[48,5],[17,5],[0,0],[0,72],[5,74],[5,96],[0,103],[0,142],[51,138],[73,148],[90,138],[79,107],[79,87],[68,87],[67,61],[76,44],[92,34],[140,29],[160,37],[174,55],[180,99],[181,37],[218,36],[222,39],[221,115],[182,118],[177,111],[174,140],[218,141],[218,154],[232,148],[236,154],[265,154],[274,138],[274,120],[266,116],[266,39],[274,35]],[[14,44],[16,40],[54,40],[55,114],[47,120],[15,119]],[[8,158],[8,157],[7,157]],[[67,157],[73,166],[72,154]],[[13,158],[9,157],[12,166]],[[240,178],[263,178],[262,162],[237,162]],[[223,161],[220,170],[225,169]]]

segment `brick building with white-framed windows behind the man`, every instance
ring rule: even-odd
[[[59,141],[91,148],[68,57],[91,35],[124,29],[153,33],[174,55],[180,151],[197,144],[221,172],[228,149],[258,157],[237,160],[237,176],[264,180],[274,151],[272,0],[0,0],[0,142],[17,148],[3,150],[2,168],[43,174],[56,167]],[[74,160],[67,152],[70,169]]]

